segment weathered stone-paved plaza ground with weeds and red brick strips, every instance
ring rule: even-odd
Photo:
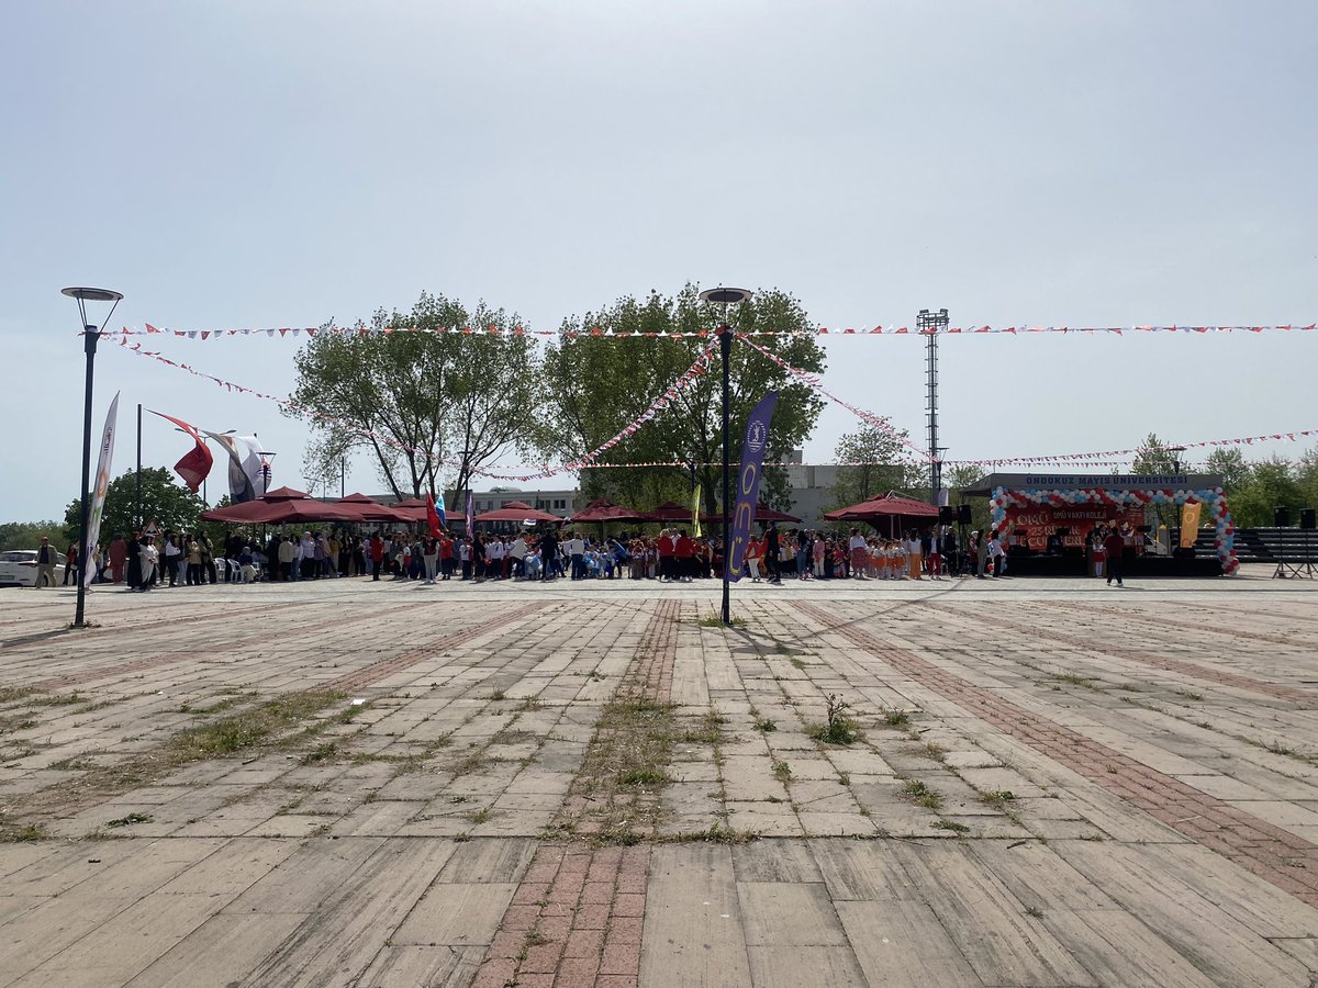
[[[4,590],[0,987],[1313,988],[1269,577]]]

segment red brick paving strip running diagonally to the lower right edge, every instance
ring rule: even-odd
[[[851,623],[838,624],[837,617],[822,607],[801,602],[792,606],[818,622],[821,631],[841,635],[921,686],[1097,782],[1178,834],[1218,851],[1302,902],[1318,906],[1318,844],[1207,796],[1056,721],[1016,706]],[[1032,632],[1037,634],[1037,630]]]

